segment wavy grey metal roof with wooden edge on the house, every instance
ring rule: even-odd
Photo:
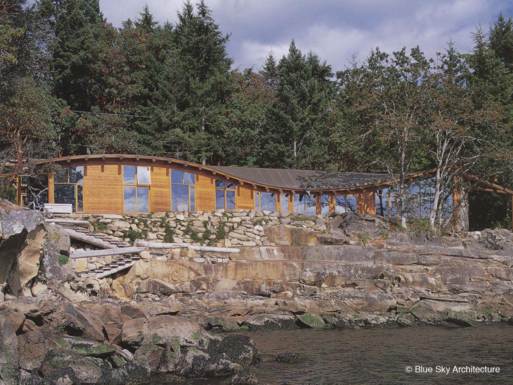
[[[204,166],[198,163],[187,162],[179,159],[152,157],[145,155],[126,155],[126,154],[103,154],[103,155],[79,155],[62,158],[34,160],[33,164],[44,163],[70,163],[71,161],[84,160],[105,160],[105,159],[131,159],[131,160],[151,160],[166,164],[180,164],[183,166],[195,167],[199,170],[205,170],[212,175],[221,175],[226,179],[235,179],[239,182],[252,184],[272,189],[286,190],[349,190],[362,188],[369,185],[390,184],[391,179],[388,174],[369,174],[359,172],[337,172],[337,171],[314,171],[314,170],[295,170],[278,168],[251,168],[251,167],[232,167],[232,166]],[[87,163],[86,163],[87,164]],[[427,174],[429,171],[419,172],[409,177]]]

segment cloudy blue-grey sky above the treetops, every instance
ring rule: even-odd
[[[176,22],[182,0],[100,0],[116,27],[136,18],[144,5],[159,22]],[[488,31],[499,12],[513,14],[510,0],[205,0],[224,33],[234,65],[259,68],[267,53],[286,53],[290,41],[317,53],[334,70],[373,47],[391,52],[419,45],[429,56],[449,40],[460,51],[472,48],[471,33]]]

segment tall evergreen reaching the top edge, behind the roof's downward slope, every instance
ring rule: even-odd
[[[225,101],[231,90],[232,60],[222,35],[203,1],[196,10],[185,3],[174,30],[177,60],[176,119],[167,143],[175,157],[215,162]]]

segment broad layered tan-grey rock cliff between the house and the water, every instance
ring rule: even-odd
[[[278,225],[265,232],[269,239],[298,230]],[[346,320],[367,314],[405,324],[513,316],[513,234],[507,230],[437,236],[397,232],[387,220],[347,214],[331,219],[327,234],[313,238],[303,231],[288,237],[302,246],[246,247],[226,263],[141,260],[113,279],[109,294],[177,299],[183,313],[215,309],[227,320],[242,316],[239,325],[262,313],[292,324],[307,313]],[[308,246],[312,239],[318,244]],[[213,305],[219,293],[231,293],[240,311],[233,313],[224,299]]]

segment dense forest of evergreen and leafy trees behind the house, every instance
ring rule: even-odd
[[[0,0],[0,195],[28,159],[87,153],[513,186],[511,17],[476,29],[470,53],[377,47],[336,73],[294,41],[233,68],[229,38],[203,1],[115,28],[98,0]]]

